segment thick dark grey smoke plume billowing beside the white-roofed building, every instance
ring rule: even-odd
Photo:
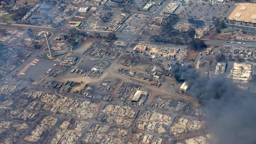
[[[172,65],[171,74],[186,81],[191,95],[203,100],[209,130],[219,139],[218,144],[256,144],[255,93],[237,90],[223,75],[208,80],[180,63]]]

